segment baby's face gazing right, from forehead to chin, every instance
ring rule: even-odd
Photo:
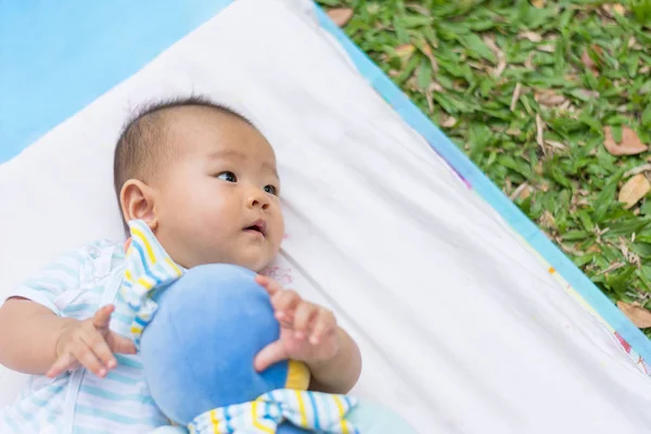
[[[188,108],[175,116],[168,136],[178,157],[155,188],[156,237],[187,268],[261,270],[284,233],[271,145],[230,115]]]

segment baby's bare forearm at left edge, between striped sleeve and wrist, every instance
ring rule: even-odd
[[[7,301],[0,307],[0,365],[24,373],[46,373],[56,361],[59,336],[72,321],[25,298]]]

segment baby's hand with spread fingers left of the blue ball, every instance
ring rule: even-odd
[[[85,367],[95,375],[105,376],[117,366],[114,353],[136,354],[136,345],[108,329],[112,305],[100,308],[85,321],[71,321],[56,342],[56,361],[48,373],[53,379],[63,372]]]

